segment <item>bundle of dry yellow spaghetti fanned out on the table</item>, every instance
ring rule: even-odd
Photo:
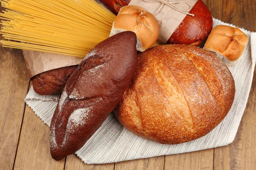
[[[93,0],[0,0],[3,47],[84,57],[116,16]],[[24,43],[25,42],[25,43]]]

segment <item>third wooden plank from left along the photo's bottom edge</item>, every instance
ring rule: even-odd
[[[65,170],[113,170],[115,164],[85,164],[75,154],[67,156]]]

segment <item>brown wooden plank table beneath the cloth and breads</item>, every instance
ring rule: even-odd
[[[256,0],[203,0],[213,17],[256,31]],[[256,73],[256,72],[255,72]],[[256,74],[234,142],[228,146],[112,164],[87,165],[49,153],[49,127],[26,106],[29,79],[20,50],[0,48],[1,170],[255,170]]]

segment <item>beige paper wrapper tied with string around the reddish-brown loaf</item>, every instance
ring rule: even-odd
[[[176,28],[189,14],[198,0],[131,0],[129,5],[140,6],[153,14],[160,27],[157,39],[161,44],[166,44]]]

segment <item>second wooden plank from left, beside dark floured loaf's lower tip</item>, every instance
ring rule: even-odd
[[[64,170],[50,155],[49,127],[26,106],[14,170]]]

